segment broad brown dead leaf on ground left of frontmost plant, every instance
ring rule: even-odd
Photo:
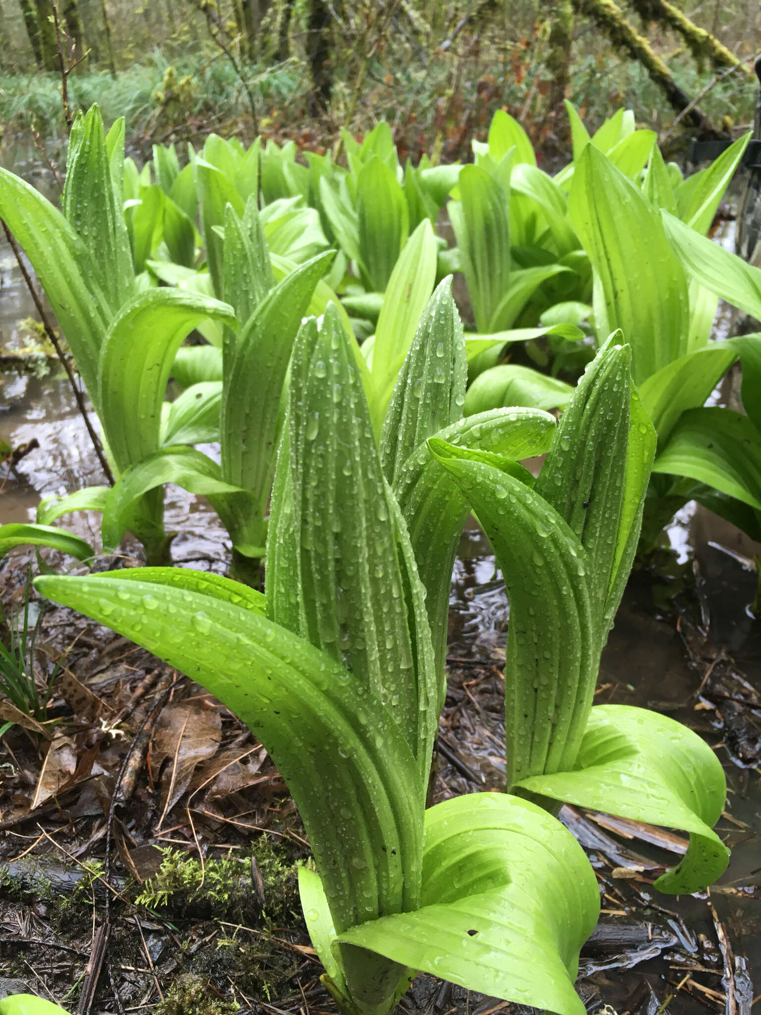
[[[221,736],[222,720],[216,708],[180,701],[163,709],[156,725],[151,754],[154,770],[161,772],[161,816],[157,831],[190,786],[196,765],[216,753]]]

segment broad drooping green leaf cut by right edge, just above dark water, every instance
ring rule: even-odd
[[[685,412],[652,471],[697,479],[761,511],[761,431],[733,409]]]

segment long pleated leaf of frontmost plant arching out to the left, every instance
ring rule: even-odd
[[[293,794],[337,928],[415,908],[422,794],[391,713],[325,653],[234,605],[248,603],[237,583],[202,593],[206,579],[177,568],[171,585],[135,572],[37,587],[198,680],[254,730]]]

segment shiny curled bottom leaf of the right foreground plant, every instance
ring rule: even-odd
[[[672,894],[699,891],[727,867],[729,851],[712,830],[727,784],[713,751],[686,726],[629,705],[592,709],[576,770],[536,775],[523,789],[608,814],[690,833],[689,849],[655,882]]]

